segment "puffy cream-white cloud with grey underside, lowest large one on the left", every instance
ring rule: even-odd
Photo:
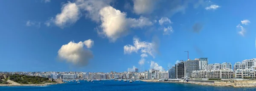
[[[85,49],[84,45],[82,41],[79,43],[70,41],[61,46],[58,50],[58,57],[76,66],[86,66],[93,58],[93,54],[90,50]]]

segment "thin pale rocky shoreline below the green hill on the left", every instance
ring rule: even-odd
[[[62,84],[62,83],[20,84],[20,85],[14,85],[14,84],[0,84],[0,86],[46,86],[46,85],[55,85],[55,84]]]

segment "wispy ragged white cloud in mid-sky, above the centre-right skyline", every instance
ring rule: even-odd
[[[135,37],[134,37],[133,41],[134,41],[134,46],[130,45],[130,44],[124,46],[125,54],[130,54],[132,52],[140,51],[142,54],[147,53],[154,58],[154,52],[156,51],[154,46],[156,44],[150,43],[150,42],[145,42],[145,41],[140,41],[140,39],[135,38]]]

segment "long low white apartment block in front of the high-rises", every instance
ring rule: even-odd
[[[232,69],[209,69],[209,70],[198,70],[192,72],[194,78],[222,78],[232,79],[234,72]]]

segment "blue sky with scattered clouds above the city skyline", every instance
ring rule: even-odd
[[[234,64],[255,58],[255,3],[1,0],[0,71],[167,69],[184,51]]]

